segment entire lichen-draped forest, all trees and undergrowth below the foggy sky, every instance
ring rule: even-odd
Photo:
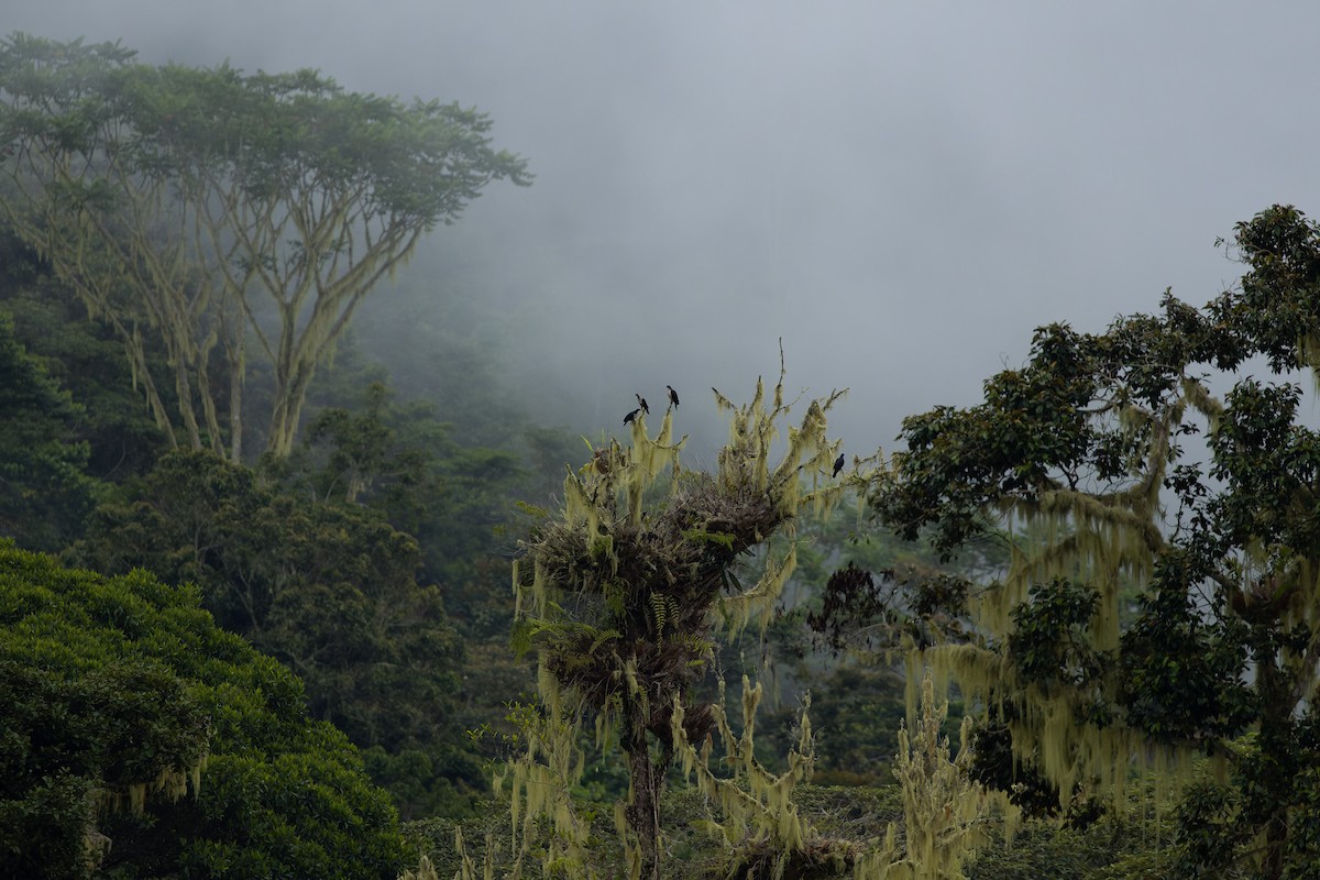
[[[532,182],[491,132],[0,42],[0,873],[1320,876],[1320,227],[898,450],[783,352],[582,437],[503,344],[355,332]]]

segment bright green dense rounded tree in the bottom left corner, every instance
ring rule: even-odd
[[[0,873],[397,876],[397,814],[199,592],[0,544]]]

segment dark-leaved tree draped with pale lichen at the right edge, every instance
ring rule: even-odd
[[[1226,781],[1188,789],[1179,876],[1246,860],[1275,880],[1320,864],[1320,433],[1292,381],[1320,367],[1320,227],[1275,206],[1236,248],[1239,289],[1098,335],[1043,327],[982,404],[906,420],[870,503],[949,554],[1010,536],[972,602],[987,640],[927,658],[1019,765],[1067,803],[1121,793],[1130,760],[1209,755]]]

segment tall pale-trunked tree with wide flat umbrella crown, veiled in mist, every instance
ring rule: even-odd
[[[471,108],[346,92],[312,70],[0,41],[4,215],[115,327],[172,442],[227,446],[231,460],[251,347],[273,373],[265,445],[282,456],[317,364],[375,284],[487,183],[531,181],[490,127]],[[173,368],[177,416],[148,334]]]

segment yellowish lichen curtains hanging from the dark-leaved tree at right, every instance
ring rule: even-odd
[[[1001,499],[1010,561],[995,588],[983,591],[973,603],[975,625],[985,632],[1012,632],[1011,615],[1031,602],[1034,584],[1063,578],[1098,592],[1085,627],[1086,648],[1097,656],[1118,649],[1119,590],[1147,581],[1166,546],[1159,487],[1170,460],[1172,425],[1188,404],[1197,412],[1216,412],[1214,401],[1199,384],[1184,383],[1181,388],[1185,396],[1159,417],[1134,405],[1118,408],[1118,422],[1129,441],[1143,443],[1126,488],[1092,493],[1056,484],[1031,496]],[[1024,679],[1007,654],[970,645],[935,646],[913,660],[932,662],[937,678],[948,676],[965,698],[982,701],[981,705],[990,701],[1002,710],[1005,697],[1014,695],[1008,727],[1015,756],[1059,786],[1061,810],[1067,810],[1078,788],[1119,802],[1134,765],[1156,773],[1164,769],[1166,760],[1176,767],[1189,765],[1176,749],[1152,751],[1127,728],[1089,720],[1097,695],[1113,695],[1110,683],[1056,682],[1045,690]],[[1154,767],[1155,761],[1160,765]]]

